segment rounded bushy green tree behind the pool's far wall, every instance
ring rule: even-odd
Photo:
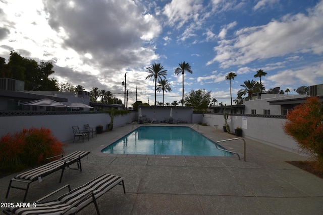
[[[193,109],[207,109],[211,100],[211,91],[206,92],[205,89],[191,90],[185,95],[185,105],[193,106]]]

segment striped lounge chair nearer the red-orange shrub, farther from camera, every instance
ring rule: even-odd
[[[27,172],[23,172],[16,175],[14,178],[10,180],[6,198],[8,198],[10,188],[15,188],[20,190],[25,190],[25,196],[23,199],[23,201],[25,201],[27,197],[29,185],[31,182],[34,182],[34,181],[41,182],[43,177],[50,175],[51,173],[56,172],[58,170],[62,170],[61,178],[60,178],[60,183],[61,183],[65,168],[69,167],[74,163],[77,163],[77,166],[78,166],[77,169],[80,169],[80,171],[82,171],[81,159],[87,156],[89,153],[90,152],[76,151],[65,157],[63,157],[63,155],[55,156],[55,157],[62,157],[62,158],[60,158],[59,160],[49,162],[47,164],[44,164],[40,167],[29,170]],[[51,158],[55,158],[55,157],[51,157]],[[48,159],[51,159],[51,158],[48,158]],[[27,187],[25,188],[25,187],[14,186],[12,185],[13,181],[27,183]]]

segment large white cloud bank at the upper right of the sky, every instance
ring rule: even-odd
[[[286,15],[263,26],[242,28],[232,40],[219,41],[217,55],[210,61],[221,67],[244,65],[257,59],[285,56],[291,53],[323,53],[323,1],[308,15]]]

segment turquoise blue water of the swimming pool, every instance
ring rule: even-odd
[[[101,152],[139,155],[233,155],[218,150],[213,141],[184,126],[141,126]]]

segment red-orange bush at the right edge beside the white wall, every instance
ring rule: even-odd
[[[323,103],[309,97],[306,103],[296,106],[287,115],[284,131],[292,136],[302,152],[309,153],[323,169]]]

